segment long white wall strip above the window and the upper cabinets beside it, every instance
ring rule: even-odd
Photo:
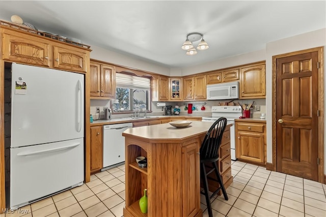
[[[93,45],[91,46],[91,49],[92,49],[91,52],[92,59],[102,60],[107,63],[144,70],[144,71],[157,73],[161,75],[167,75],[167,76],[170,75],[169,68],[148,63],[141,59],[123,55],[121,53],[113,52]]]

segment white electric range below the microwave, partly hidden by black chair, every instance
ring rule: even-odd
[[[228,124],[232,123],[230,128],[230,145],[231,145],[231,159],[236,160],[235,157],[235,133],[234,133],[234,119],[242,116],[241,106],[212,106],[212,116],[203,117],[202,121],[214,122],[220,117],[225,117]]]

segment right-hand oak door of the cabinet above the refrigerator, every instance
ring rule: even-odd
[[[87,55],[84,50],[53,46],[53,68],[86,72]]]

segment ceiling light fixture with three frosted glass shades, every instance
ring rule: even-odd
[[[183,50],[187,50],[186,54],[187,55],[196,55],[197,54],[197,50],[195,49],[193,42],[199,41],[200,39],[202,39],[198,46],[197,49],[198,50],[206,50],[209,48],[207,42],[205,42],[204,40],[204,35],[201,33],[189,33],[187,34],[187,38],[185,40],[185,42],[183,43],[183,45],[181,46],[181,48]]]

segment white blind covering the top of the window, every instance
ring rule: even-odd
[[[116,86],[130,89],[150,90],[151,83],[149,78],[117,73]]]

